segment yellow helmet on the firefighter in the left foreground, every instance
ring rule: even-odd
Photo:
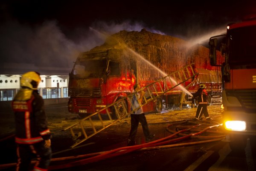
[[[20,86],[28,87],[33,90],[36,90],[40,81],[41,81],[41,78],[38,72],[29,71],[21,76]]]

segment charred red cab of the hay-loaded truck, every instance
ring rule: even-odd
[[[70,73],[68,110],[81,117],[92,114],[130,94],[134,84],[131,68],[122,70],[118,61],[108,57],[108,51],[82,53]],[[125,105],[119,106],[120,110],[128,108],[128,103]]]

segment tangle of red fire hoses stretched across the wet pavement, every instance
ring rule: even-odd
[[[140,144],[140,145],[134,145],[134,146],[126,146],[126,147],[121,147],[121,148],[116,148],[110,151],[102,151],[102,152],[97,152],[97,153],[92,153],[92,154],[84,154],[84,155],[79,155],[79,156],[73,156],[73,157],[61,157],[61,158],[53,158],[51,161],[63,161],[63,160],[74,160],[74,159],[79,159],[79,158],[85,158],[81,160],[76,160],[73,162],[65,162],[65,164],[61,165],[50,165],[49,170],[57,170],[57,169],[63,169],[63,168],[72,168],[76,167],[79,165],[84,165],[87,163],[92,163],[92,162],[97,162],[100,160],[105,160],[109,159],[111,157],[116,157],[119,155],[127,154],[132,151],[143,151],[143,150],[150,150],[150,149],[160,149],[160,148],[171,148],[171,147],[177,147],[177,146],[185,146],[185,145],[195,145],[195,144],[201,144],[201,143],[208,143],[208,142],[214,142],[214,141],[220,141],[222,140],[225,135],[218,135],[218,136],[199,136],[203,134],[204,132],[210,132],[210,133],[220,133],[222,134],[221,131],[212,131],[210,129],[214,128],[219,128],[221,124],[215,124],[215,125],[209,125],[205,128],[200,128],[200,126],[204,125],[204,123],[197,123],[196,125],[185,125],[188,124],[189,121],[182,121],[178,122],[175,124],[168,125],[166,130],[170,133],[171,135],[161,138],[159,140],[155,140],[152,142]],[[171,130],[170,128],[172,126],[176,127],[176,131]],[[198,131],[195,133],[190,133],[186,134],[186,132],[189,131]],[[175,136],[181,136],[174,138]],[[185,140],[187,138],[198,138],[198,139],[212,139],[212,140],[205,140],[205,141],[197,141],[197,142],[186,142],[186,143],[178,143],[178,144],[171,144],[173,142]],[[174,138],[174,139],[171,139]],[[171,140],[169,140],[171,139]],[[32,161],[35,162],[35,161]],[[10,163],[10,164],[5,164],[5,165],[0,165],[0,168],[6,168],[6,167],[12,167],[16,163]]]

